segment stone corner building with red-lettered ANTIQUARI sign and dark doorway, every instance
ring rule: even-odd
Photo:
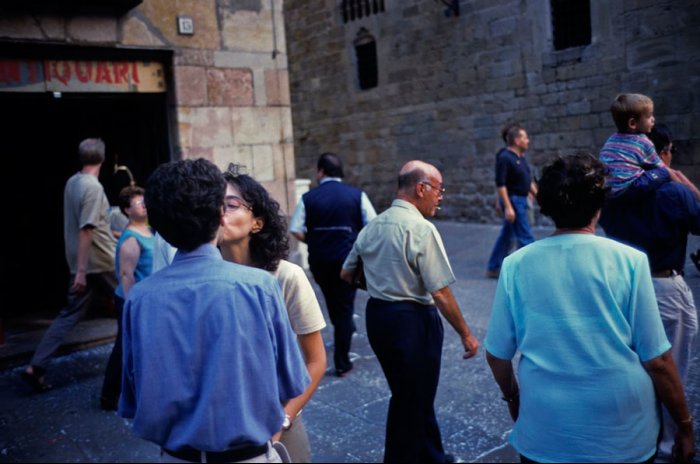
[[[2,2],[4,172],[24,178],[29,168],[33,185],[41,186],[23,189],[23,200],[6,211],[20,227],[9,232],[15,245],[0,257],[4,290],[31,291],[47,282],[51,296],[34,303],[60,308],[67,281],[63,185],[78,169],[77,146],[85,137],[105,140],[105,186],[117,164],[145,185],[162,162],[204,157],[221,168],[245,165],[285,212],[294,207],[282,3]],[[12,187],[2,188],[13,198]],[[28,205],[45,205],[42,228],[30,226],[37,210]]]

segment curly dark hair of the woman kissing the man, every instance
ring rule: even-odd
[[[250,238],[253,263],[266,271],[276,271],[280,260],[289,255],[287,220],[280,213],[280,204],[258,181],[249,175],[238,174],[235,165],[224,172],[224,179],[238,189],[252,208],[253,216],[263,220],[263,228]]]

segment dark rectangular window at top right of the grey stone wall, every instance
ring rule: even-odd
[[[590,0],[551,0],[554,49],[591,43]]]

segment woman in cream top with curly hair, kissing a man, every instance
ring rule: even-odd
[[[285,421],[273,441],[279,440],[286,446],[292,462],[311,462],[309,439],[300,414],[326,370],[321,337],[326,322],[304,270],[283,259],[289,253],[289,238],[279,203],[252,177],[238,174],[235,165],[229,166],[224,178],[226,214],[219,234],[221,254],[227,261],[265,269],[277,278],[311,376],[306,391],[284,405]]]

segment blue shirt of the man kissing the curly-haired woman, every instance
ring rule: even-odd
[[[310,383],[275,279],[211,244],[133,286],[122,340],[119,414],[168,449],[265,443]]]

